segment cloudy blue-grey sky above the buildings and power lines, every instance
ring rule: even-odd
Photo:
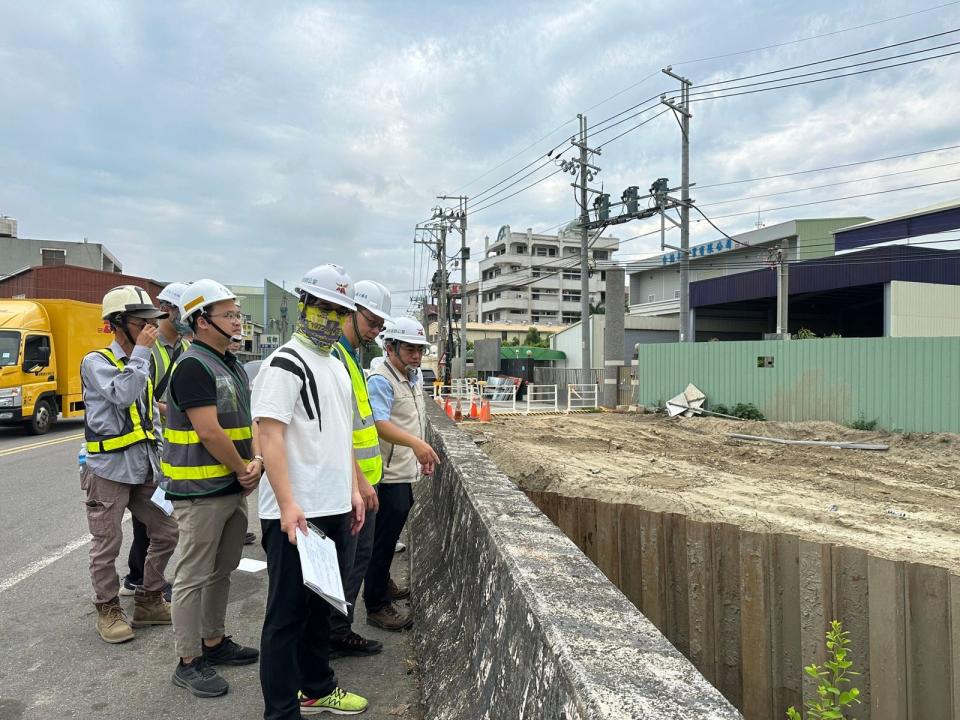
[[[21,237],[87,237],[128,272],[162,280],[290,282],[338,262],[355,279],[386,283],[403,309],[423,281],[414,226],[436,195],[477,196],[474,258],[503,224],[545,230],[576,214],[563,174],[504,199],[553,166],[504,186],[568,147],[578,112],[594,126],[673,90],[657,72],[671,63],[702,86],[960,28],[960,3],[937,5],[9,0],[0,2],[0,213],[19,221]],[[887,64],[905,62],[957,42],[960,32],[948,33],[784,75],[916,53]],[[937,46],[947,47],[916,52]],[[699,102],[691,179],[705,186],[960,145],[958,106],[960,55]],[[656,112],[597,130],[594,184],[615,198],[628,185],[679,179],[670,114],[616,137]],[[728,233],[752,228],[758,209],[767,224],[879,218],[960,197],[960,182],[931,185],[960,178],[951,163],[960,149],[693,197]],[[822,185],[831,187],[772,195]],[[915,185],[926,187],[775,209]],[[734,198],[749,199],[713,204]],[[715,236],[705,223],[692,228],[694,242]],[[639,238],[620,255],[657,247]]]

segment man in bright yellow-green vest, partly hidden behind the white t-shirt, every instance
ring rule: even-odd
[[[360,363],[360,351],[373,343],[390,319],[390,291],[372,280],[361,280],[354,288],[357,309],[347,318],[343,337],[333,347],[333,354],[343,363],[353,385],[353,453],[360,466],[360,494],[366,505],[366,519],[360,532],[351,536],[347,547],[346,572],[343,575],[344,598],[350,603],[347,616],[334,613],[330,618],[330,656],[374,655],[383,650],[383,643],[353,632],[353,605],[367,573],[376,524],[377,493],[374,490],[383,474],[380,438],[374,424],[373,410],[367,395],[367,383]]]

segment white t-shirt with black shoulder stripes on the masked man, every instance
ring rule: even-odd
[[[313,373],[316,400],[303,363],[285,349],[296,352]],[[252,409],[254,418],[273,418],[287,426],[290,485],[304,514],[311,518],[349,512],[353,386],[343,363],[293,338],[263,361],[253,383]],[[279,520],[280,508],[269,475],[267,470],[260,483],[260,517]]]

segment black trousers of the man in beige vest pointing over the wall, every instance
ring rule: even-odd
[[[380,509],[373,535],[370,566],[363,580],[363,604],[367,612],[377,612],[390,604],[390,565],[400,532],[413,507],[413,486],[410,483],[377,483]]]

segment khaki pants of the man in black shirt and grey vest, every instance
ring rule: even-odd
[[[241,493],[174,500],[180,525],[180,561],[173,579],[173,638],[177,655],[197,657],[201,638],[225,633],[230,573],[237,569],[247,532]]]

